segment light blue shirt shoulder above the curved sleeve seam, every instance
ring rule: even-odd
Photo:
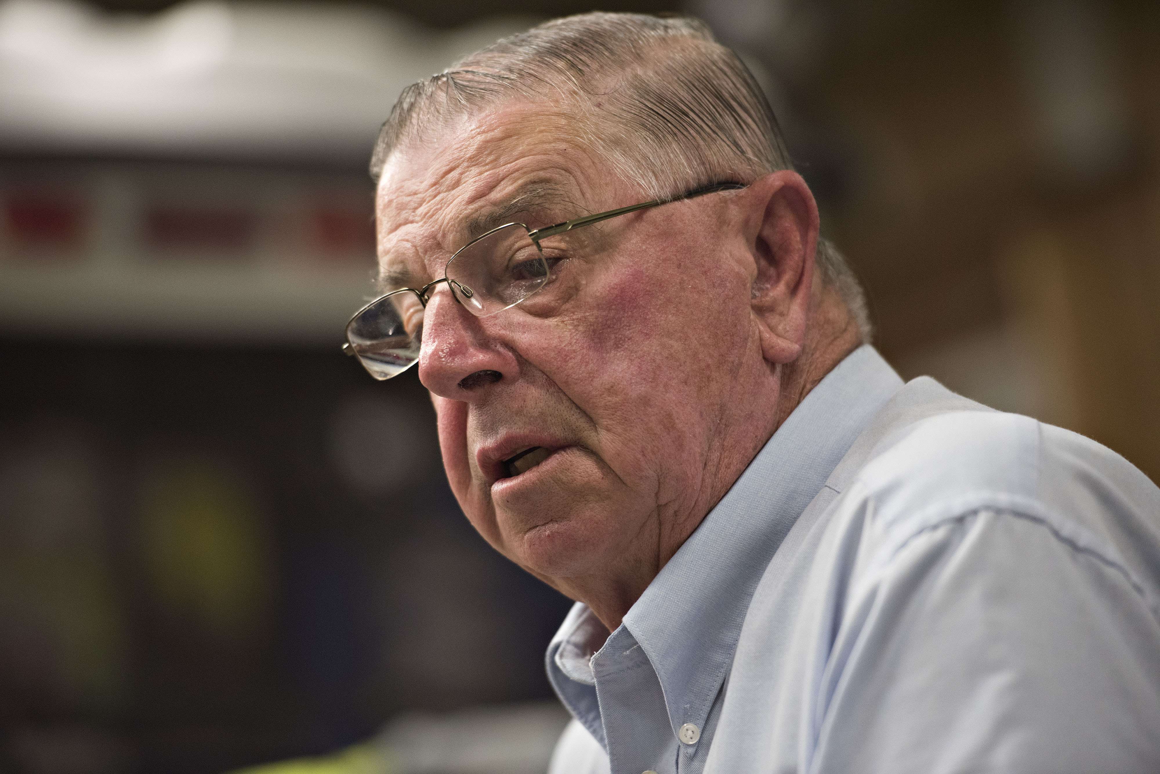
[[[1160,489],[1111,450],[1030,417],[959,410],[898,428],[835,506],[846,517],[839,521],[857,525],[863,567],[889,563],[916,535],[986,510],[1037,523],[1045,536],[1121,568],[1150,601],[1160,600]]]

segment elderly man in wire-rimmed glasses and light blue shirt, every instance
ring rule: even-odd
[[[590,14],[409,87],[383,298],[479,533],[577,605],[553,772],[1160,771],[1160,491],[870,348],[760,88]]]

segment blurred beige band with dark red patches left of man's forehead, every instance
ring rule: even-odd
[[[369,190],[364,174],[229,165],[0,167],[0,331],[316,341],[336,352],[371,290],[372,235],[328,246],[316,221],[335,210],[369,231]],[[13,211],[41,194],[77,202],[73,236],[19,233]],[[237,233],[213,238],[230,221]]]

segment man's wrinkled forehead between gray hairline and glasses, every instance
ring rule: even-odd
[[[401,144],[376,191],[383,283],[426,284],[488,228],[512,221],[535,228],[615,197],[612,175],[573,125],[561,112],[509,103]]]

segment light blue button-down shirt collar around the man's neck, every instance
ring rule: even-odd
[[[657,672],[674,732],[708,715],[766,565],[902,384],[873,348],[851,352],[810,390],[625,614],[623,627]],[[578,603],[549,645],[549,678],[578,717],[593,708],[592,688],[577,682],[593,685],[588,659],[607,636]]]

